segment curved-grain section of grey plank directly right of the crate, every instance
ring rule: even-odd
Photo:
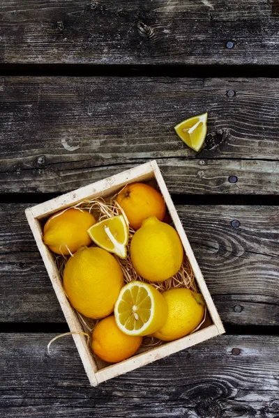
[[[179,216],[221,318],[278,325],[279,207],[181,206]]]

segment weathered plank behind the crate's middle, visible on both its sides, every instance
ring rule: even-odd
[[[24,217],[0,206],[0,322],[63,323]],[[226,324],[279,325],[279,208],[176,206],[213,300]],[[239,221],[238,227],[232,221]],[[9,225],[7,233],[6,225]]]

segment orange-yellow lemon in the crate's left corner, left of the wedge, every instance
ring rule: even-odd
[[[55,213],[47,220],[43,230],[43,241],[56,254],[69,255],[82,245],[90,245],[87,233],[96,219],[87,210],[71,208]]]

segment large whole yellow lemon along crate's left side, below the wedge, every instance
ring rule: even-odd
[[[84,316],[110,315],[124,285],[112,254],[98,247],[80,247],[66,263],[63,286],[70,304]]]

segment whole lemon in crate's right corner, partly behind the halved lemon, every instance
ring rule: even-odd
[[[167,322],[152,336],[173,341],[190,334],[204,316],[204,298],[190,289],[171,289],[162,293],[167,302]]]

